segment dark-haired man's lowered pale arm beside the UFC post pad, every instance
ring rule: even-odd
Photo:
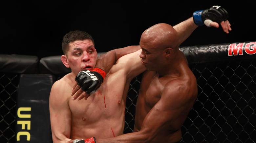
[[[56,81],[50,93],[49,104],[53,143],[66,143],[71,140],[69,137],[72,117],[67,98],[60,98],[61,95],[65,95],[60,90],[62,86],[60,81]]]

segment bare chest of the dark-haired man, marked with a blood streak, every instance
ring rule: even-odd
[[[87,100],[69,99],[69,107],[74,118],[97,120],[100,118],[110,118],[117,110],[121,109],[121,96],[104,92],[101,89],[90,95]],[[93,115],[93,116],[91,116]]]

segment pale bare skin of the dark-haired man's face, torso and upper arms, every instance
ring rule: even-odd
[[[139,64],[140,51],[119,58],[107,73],[101,87],[87,100],[73,100],[71,91],[76,83],[75,75],[83,69],[94,68],[97,54],[90,40],[77,40],[70,44],[69,52],[62,60],[72,72],[56,81],[50,93],[54,143],[92,136],[109,138],[123,134],[129,83],[133,77],[145,70]],[[134,70],[135,68],[140,70]]]

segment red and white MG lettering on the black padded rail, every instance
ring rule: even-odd
[[[228,56],[237,56],[243,55],[243,47],[245,49],[245,53],[249,55],[253,55],[256,53],[256,42],[247,43],[232,43],[228,46]]]

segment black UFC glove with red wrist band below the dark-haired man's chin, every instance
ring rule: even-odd
[[[80,71],[76,75],[75,81],[87,94],[92,94],[100,87],[105,75],[105,71],[95,68],[93,71]]]

